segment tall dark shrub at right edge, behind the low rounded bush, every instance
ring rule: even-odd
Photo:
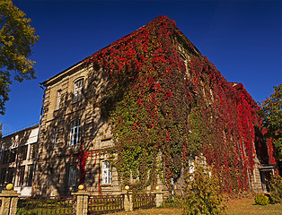
[[[270,203],[281,203],[282,201],[282,177],[273,176],[270,181]]]

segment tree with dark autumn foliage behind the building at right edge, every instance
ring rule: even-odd
[[[274,139],[276,159],[281,169],[282,163],[282,84],[274,86],[270,98],[260,102],[264,116],[263,125],[268,129],[267,138]]]

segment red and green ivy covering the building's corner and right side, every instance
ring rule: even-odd
[[[107,76],[102,100],[93,106],[109,118],[110,153],[123,185],[130,176],[139,189],[155,185],[158,174],[169,185],[189,158],[203,154],[222,189],[232,192],[249,188],[247,172],[257,152],[261,161],[275,162],[271,142],[262,141],[260,107],[241,83],[227,82],[171,19],[155,18],[87,57],[84,66],[94,68],[90,79],[98,71]]]

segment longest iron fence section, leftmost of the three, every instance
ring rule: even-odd
[[[74,215],[76,214],[75,196],[20,197],[17,215]]]

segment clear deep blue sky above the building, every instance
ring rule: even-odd
[[[40,36],[32,48],[37,79],[13,82],[3,133],[39,123],[40,82],[166,15],[216,65],[260,101],[282,83],[282,1],[13,0]]]

